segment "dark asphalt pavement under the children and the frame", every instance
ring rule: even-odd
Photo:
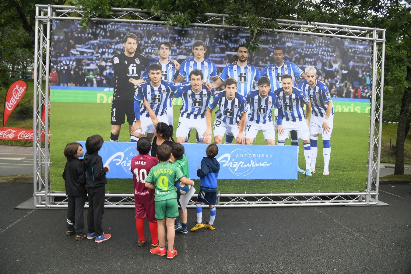
[[[32,184],[2,183],[0,273],[411,273],[411,185],[380,187],[390,206],[217,209],[216,229],[176,235],[168,260],[137,247],[132,209],[105,210],[108,241],[77,242],[65,210],[14,209]]]

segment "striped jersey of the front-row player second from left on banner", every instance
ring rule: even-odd
[[[205,85],[201,86],[203,89],[200,92],[194,92],[191,84],[185,84],[173,92],[175,98],[182,98],[180,117],[185,117],[187,119],[199,119],[205,117],[208,102],[215,90],[212,88],[211,91],[208,91]]]

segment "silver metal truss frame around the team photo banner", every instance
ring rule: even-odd
[[[90,21],[164,24],[159,16],[152,16],[143,9],[112,8],[109,18],[92,17]],[[51,27],[53,20],[80,21],[83,10],[81,7],[61,5],[36,5],[35,21],[35,65],[34,65],[34,95],[33,95],[33,196],[34,207],[53,208],[67,207],[67,197],[63,192],[53,192],[50,189],[50,142],[49,119],[42,122],[42,104],[46,111],[50,109],[49,71]],[[192,23],[194,27],[226,28],[247,30],[245,27],[226,25],[226,14],[204,14]],[[266,20],[267,18],[262,18]],[[379,194],[379,172],[381,156],[381,131],[384,87],[384,53],[385,29],[366,28],[360,26],[307,23],[277,19],[278,27],[266,32],[288,33],[305,36],[333,37],[369,41],[372,43],[372,96],[370,103],[369,152],[367,164],[367,187],[363,192],[332,192],[332,193],[233,193],[217,195],[217,207],[281,207],[281,206],[312,206],[312,205],[377,205]],[[45,85],[42,81],[45,80]],[[44,150],[42,150],[42,134]],[[44,168],[43,168],[44,165]],[[372,174],[376,174],[375,177]],[[194,196],[193,196],[194,198]],[[115,208],[134,207],[132,193],[106,193],[105,206]],[[87,205],[86,205],[87,207]],[[194,207],[193,200],[188,207]]]

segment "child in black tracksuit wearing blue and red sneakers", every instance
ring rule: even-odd
[[[85,170],[87,173],[85,187],[88,193],[87,239],[96,238],[97,243],[110,239],[110,234],[104,234],[102,218],[104,214],[104,200],[106,194],[106,173],[109,166],[103,167],[103,159],[98,154],[104,143],[103,137],[96,134],[85,141],[84,156]]]

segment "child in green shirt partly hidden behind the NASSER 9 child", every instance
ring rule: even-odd
[[[171,159],[173,159],[173,165],[178,166],[180,168],[182,174],[186,178],[189,178],[189,171],[188,171],[188,161],[187,157],[184,154],[184,146],[180,143],[173,143],[171,145]],[[177,193],[177,201],[180,205],[180,194]],[[181,205],[180,205],[181,207]],[[180,232],[181,234],[186,235],[187,232],[187,208],[183,211],[181,208],[181,217],[182,223],[178,221],[178,218],[174,220],[174,230]]]

